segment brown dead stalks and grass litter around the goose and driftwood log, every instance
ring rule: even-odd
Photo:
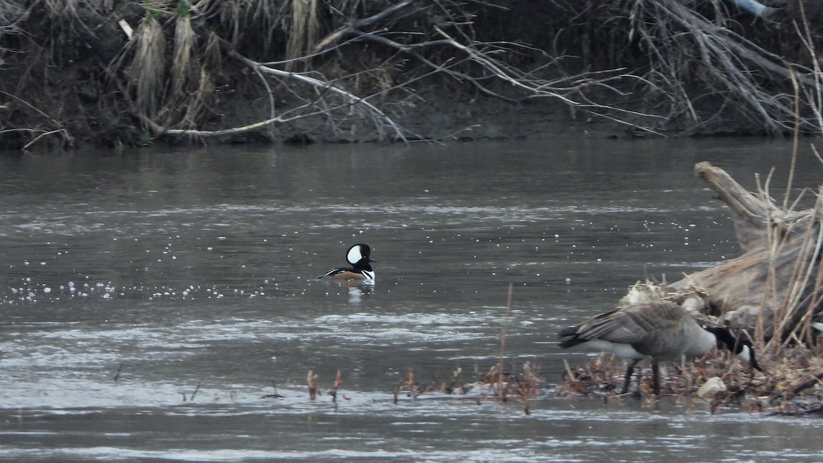
[[[795,147],[799,134],[795,132]],[[793,177],[796,150],[791,161],[789,178]],[[771,201],[768,189],[769,181],[760,186],[757,197],[762,201]],[[788,212],[797,199],[789,201],[791,180],[788,181],[786,199],[780,217],[789,217]],[[792,206],[789,206],[789,204]],[[776,205],[775,205],[776,206]],[[823,266],[820,255],[823,252],[823,195],[818,194],[811,209],[798,213],[797,222],[784,223],[782,219],[764,217],[769,231],[766,236],[767,246],[774,255],[779,255],[784,246],[799,246],[792,277],[779,281],[776,268],[778,260],[771,259],[770,276],[765,282],[765,301],[760,306],[756,327],[751,334],[756,357],[766,372],[744,371],[741,362],[731,358],[727,351],[707,354],[698,362],[684,359],[678,367],[667,368],[667,374],[661,375],[661,392],[674,395],[678,399],[695,395],[709,378],[717,377],[723,381],[724,391],[713,395],[704,395],[712,410],[718,405],[737,404],[752,411],[765,411],[774,414],[817,414],[823,413],[823,333],[811,327],[811,321],[821,317],[821,295],[823,295]],[[781,227],[797,227],[802,233],[802,242],[792,243],[789,234],[780,232]],[[780,287],[780,288],[779,288]],[[790,291],[781,289],[790,288]],[[689,288],[689,298],[701,301],[704,293],[699,289]],[[669,295],[663,287],[653,283],[637,283],[630,288],[621,303],[638,300],[675,299],[678,295]],[[705,305],[703,305],[705,307]],[[699,318],[714,322],[714,317],[699,314]],[[768,321],[766,321],[768,320]],[[623,362],[613,361],[611,355],[601,355],[588,362],[584,367],[567,369],[563,384],[557,393],[564,397],[584,395],[614,395],[622,388],[625,367]],[[649,395],[651,386],[647,372],[637,387],[641,394]]]

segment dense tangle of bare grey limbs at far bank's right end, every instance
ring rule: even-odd
[[[646,77],[667,89],[664,93],[668,98],[653,101],[654,104],[669,111],[672,119],[688,115],[690,124],[699,125],[706,115],[695,110],[695,99],[714,96],[730,102],[723,110],[739,106],[739,117],[758,121],[768,133],[791,133],[795,120],[803,131],[820,130],[816,118],[798,114],[787,104],[792,100],[789,93],[792,90],[786,82],[796,79],[804,88],[819,88],[816,72],[761,47],[742,35],[741,28],[735,27],[729,18],[720,15],[710,19],[695,11],[690,3],[681,0],[635,2],[633,31],[637,31],[651,58]],[[810,56],[816,54],[810,53]],[[705,84],[704,91],[699,93],[687,85],[694,81],[695,68],[700,69],[696,73]],[[766,91],[767,86],[774,90]],[[816,106],[811,96],[804,101],[804,106],[806,104]],[[684,133],[695,128],[692,126]]]

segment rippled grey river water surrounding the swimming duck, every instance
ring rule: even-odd
[[[774,166],[782,198],[790,156],[748,138],[2,153],[0,458],[820,461],[820,420],[551,391],[587,359],[560,327],[737,255],[695,162],[752,189]],[[807,143],[799,164],[793,185],[819,185]],[[357,242],[374,286],[313,279]],[[546,379],[531,413],[394,400],[410,371],[481,379],[501,337]]]

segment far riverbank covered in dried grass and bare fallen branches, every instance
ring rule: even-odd
[[[0,0],[2,146],[455,138],[408,129],[452,94],[635,136],[817,133],[823,7],[766,3]]]

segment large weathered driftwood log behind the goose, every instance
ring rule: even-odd
[[[810,340],[811,322],[823,312],[821,195],[813,208],[792,211],[708,162],[697,164],[695,173],[730,208],[742,255],[690,274],[667,292],[686,294],[680,302],[687,308],[758,339]]]

